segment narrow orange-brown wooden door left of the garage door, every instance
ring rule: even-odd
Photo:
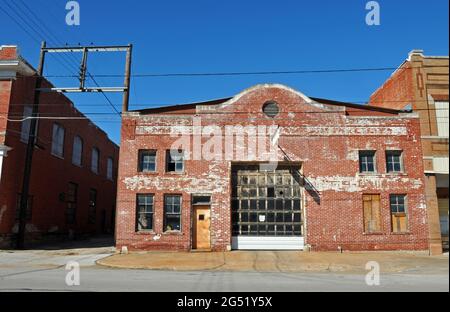
[[[211,249],[211,208],[194,208],[193,249]]]

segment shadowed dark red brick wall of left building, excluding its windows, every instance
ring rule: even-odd
[[[33,103],[35,78],[18,77],[0,81],[0,112],[7,112],[9,119],[20,119],[24,107]],[[44,86],[51,86],[45,82]],[[42,93],[40,116],[84,116],[62,94]],[[64,157],[51,154],[53,124],[65,128]],[[6,128],[4,144],[12,148],[4,159],[0,184],[0,236],[10,237],[17,230],[16,203],[22,189],[26,144],[21,141],[21,122],[6,122],[0,118],[0,126]],[[0,130],[1,132],[1,130]],[[82,166],[72,164],[75,136],[83,139]],[[0,137],[1,138],[1,137]],[[1,143],[1,142],[0,142]],[[100,150],[100,173],[91,172],[91,151]],[[114,228],[116,181],[119,148],[101,129],[89,120],[44,120],[38,122],[38,139],[34,150],[30,195],[33,196],[32,219],[27,224],[29,237],[53,234],[102,233]],[[107,158],[114,160],[114,180],[106,177]],[[69,183],[78,184],[76,222],[66,223],[65,210]],[[96,223],[88,222],[89,191],[97,190]],[[103,224],[103,214],[104,224]]]

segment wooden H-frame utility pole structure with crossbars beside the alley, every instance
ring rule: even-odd
[[[28,134],[28,144],[25,158],[25,166],[23,172],[22,193],[20,195],[20,210],[19,210],[19,231],[17,234],[17,249],[25,248],[25,232],[27,225],[27,207],[30,192],[31,181],[31,167],[33,162],[33,152],[36,143],[36,125],[39,116],[39,98],[42,92],[59,92],[59,93],[79,93],[79,92],[123,92],[123,111],[128,111],[129,98],[130,98],[130,81],[131,81],[131,56],[132,56],[131,44],[127,46],[86,46],[86,47],[57,47],[49,48],[45,42],[42,42],[41,53],[39,60],[39,67],[36,73],[36,88],[34,93],[33,112],[30,121],[30,131]],[[101,53],[101,52],[126,52],[125,62],[125,80],[124,86],[121,87],[96,87],[86,86],[86,75],[89,74],[87,70],[88,54],[89,53]],[[64,87],[64,88],[42,88],[42,82],[44,81],[44,63],[45,55],[47,53],[82,53],[82,60],[80,64],[80,84],[76,87]],[[89,74],[89,76],[91,76]],[[91,76],[92,78],[92,76]]]

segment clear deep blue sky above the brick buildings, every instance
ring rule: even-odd
[[[17,21],[21,22],[19,13],[33,25],[22,2],[48,30],[29,30],[30,38],[0,10],[0,44],[19,45],[33,65],[42,39],[53,46],[133,43],[135,74],[396,67],[412,49],[448,55],[449,47],[448,0],[378,1],[381,25],[371,27],[365,23],[363,0],[80,0],[81,25],[72,27],[65,23],[65,0],[0,0],[0,5]],[[48,31],[51,35],[45,34]],[[49,57],[46,73],[73,74],[75,60],[66,57],[57,62],[56,57],[61,56]],[[122,74],[123,63],[123,55],[95,56],[89,71]],[[364,102],[390,74],[134,78],[130,109],[229,97],[266,82],[283,83],[309,96]],[[58,86],[76,83],[68,78],[51,80]],[[97,80],[108,86],[121,83],[117,78]],[[108,96],[120,108],[121,95]],[[120,118],[101,95],[70,97],[114,141],[120,141]]]

